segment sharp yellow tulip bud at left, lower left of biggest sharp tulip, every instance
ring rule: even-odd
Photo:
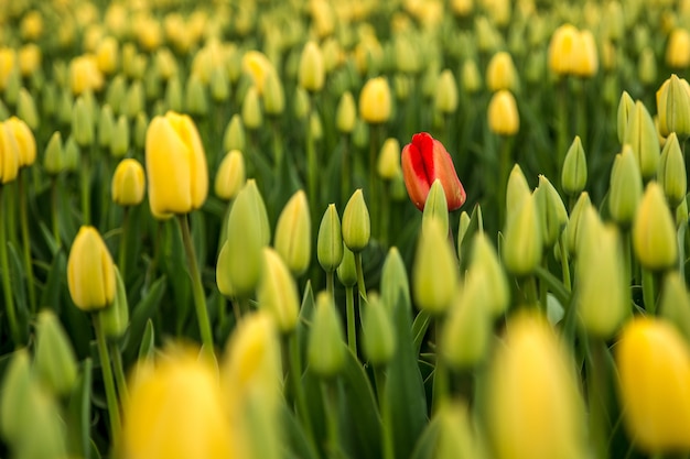
[[[94,227],[83,226],[72,242],[67,284],[72,300],[82,310],[103,309],[115,298],[112,258]]]

